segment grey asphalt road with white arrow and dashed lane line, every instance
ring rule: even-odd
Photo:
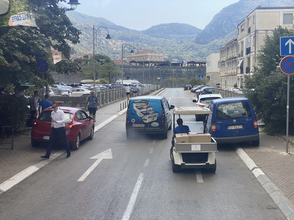
[[[183,89],[160,95],[171,105],[194,105]],[[125,117],[81,142],[71,158],[61,155],[1,194],[0,219],[286,219],[235,152],[237,144],[218,148],[216,173],[173,173],[172,131],[168,139],[127,139]]]

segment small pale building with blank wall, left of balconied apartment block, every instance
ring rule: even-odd
[[[209,84],[215,85],[220,82],[220,54],[211,53],[206,57],[206,78]]]

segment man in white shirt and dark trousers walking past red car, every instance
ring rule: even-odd
[[[58,109],[58,104],[56,102],[52,103],[53,111],[51,112],[51,134],[49,138],[49,144],[47,145],[47,151],[45,156],[41,156],[41,158],[45,160],[49,160],[52,148],[55,144],[58,144],[59,141],[62,141],[65,149],[66,149],[66,158],[71,157],[71,151],[69,147],[69,142],[66,139],[66,131],[65,131],[65,115],[64,112]]]

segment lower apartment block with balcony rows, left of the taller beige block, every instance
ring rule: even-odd
[[[234,87],[237,83],[237,37],[220,47],[219,53],[220,88]]]

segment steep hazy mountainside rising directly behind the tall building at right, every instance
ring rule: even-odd
[[[237,25],[259,5],[261,7],[290,7],[293,6],[293,1],[276,0],[269,3],[268,0],[240,0],[217,13],[204,30],[196,36],[193,42],[208,44],[234,30],[236,30],[237,35]]]

